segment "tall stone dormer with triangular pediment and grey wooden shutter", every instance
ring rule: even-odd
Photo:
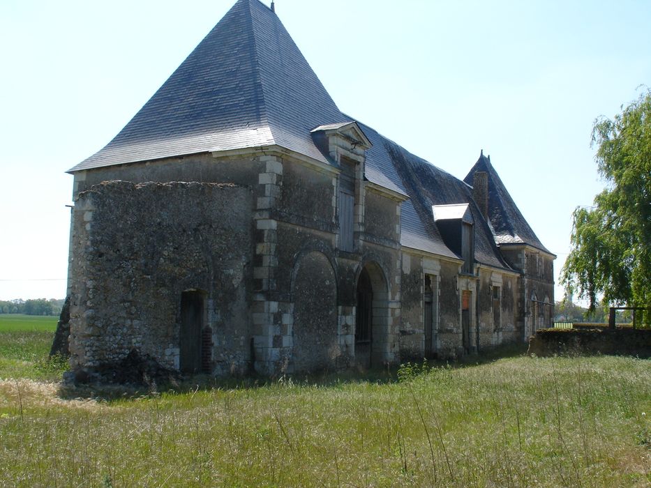
[[[337,247],[355,252],[364,232],[364,165],[366,150],[372,144],[357,122],[320,125],[311,133],[317,148],[340,169],[336,192]]]

